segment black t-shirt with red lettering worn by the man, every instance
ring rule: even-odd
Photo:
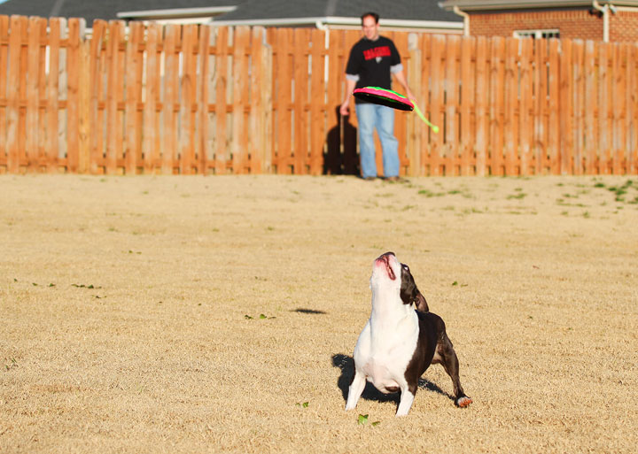
[[[401,64],[399,51],[394,42],[385,36],[376,41],[362,38],[350,50],[350,58],[346,65],[346,74],[358,75],[359,80],[354,88],[380,87],[392,89],[391,68]],[[355,99],[356,103],[361,103]]]

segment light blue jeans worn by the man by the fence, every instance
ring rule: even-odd
[[[356,113],[362,177],[377,176],[373,135],[375,127],[383,150],[384,176],[399,176],[399,141],[394,137],[394,110],[385,105],[367,103],[356,104]]]

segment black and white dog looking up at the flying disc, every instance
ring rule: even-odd
[[[366,381],[370,381],[385,394],[401,391],[396,416],[407,415],[419,377],[431,364],[443,365],[452,379],[455,404],[471,404],[459,381],[458,359],[445,323],[428,312],[408,265],[401,264],[393,252],[386,252],[372,265],[370,289],[372,312],[354,347],[354,376],[346,410],[354,409]]]

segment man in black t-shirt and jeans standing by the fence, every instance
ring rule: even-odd
[[[379,16],[376,12],[362,15],[363,37],[350,50],[346,65],[346,99],[341,104],[341,115],[349,114],[350,96],[354,88],[380,87],[392,89],[394,78],[405,89],[406,96],[414,96],[408,88],[403,74],[401,57],[392,40],[380,36]],[[362,177],[365,180],[377,178],[377,163],[374,149],[374,129],[381,140],[383,150],[384,175],[387,180],[399,179],[399,142],[394,137],[394,110],[380,104],[371,104],[355,99],[357,119],[359,120],[359,149],[361,154]]]

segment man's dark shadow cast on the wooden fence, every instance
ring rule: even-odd
[[[326,136],[323,174],[359,175],[359,155],[356,150],[357,128],[350,123],[350,115],[341,116],[339,108],[340,106],[335,108],[337,124]]]

